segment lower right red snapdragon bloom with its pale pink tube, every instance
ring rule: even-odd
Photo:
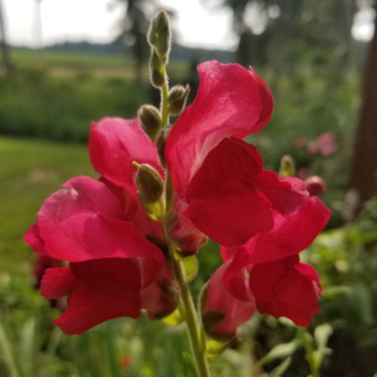
[[[234,334],[252,315],[251,304],[262,314],[310,325],[319,311],[321,286],[315,269],[301,263],[298,254],[313,242],[329,217],[330,211],[312,197],[288,218],[275,211],[271,231],[238,247],[221,246],[224,264],[209,282],[206,306],[207,311],[224,314],[224,322],[214,334]],[[221,295],[211,296],[211,292]]]

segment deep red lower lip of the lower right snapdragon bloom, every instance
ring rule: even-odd
[[[254,264],[250,289],[261,314],[290,318],[299,326],[309,326],[318,313],[321,291],[315,269],[300,263],[298,256]]]

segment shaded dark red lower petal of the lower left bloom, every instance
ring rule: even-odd
[[[135,260],[89,260],[71,263],[69,268],[73,284],[68,294],[68,309],[54,320],[66,334],[81,334],[112,318],[140,315],[141,278]]]

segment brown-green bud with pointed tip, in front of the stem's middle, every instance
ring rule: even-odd
[[[138,168],[135,176],[136,186],[143,203],[157,203],[162,198],[164,190],[160,174],[148,164],[140,165],[135,161],[132,164]]]

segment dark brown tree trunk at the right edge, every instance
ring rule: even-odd
[[[358,198],[355,213],[377,192],[377,17],[374,24],[350,174],[350,188]]]

